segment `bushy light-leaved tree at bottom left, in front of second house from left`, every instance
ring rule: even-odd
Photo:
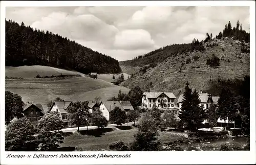
[[[63,142],[63,128],[60,113],[51,111],[44,115],[38,124],[38,140],[40,142],[40,151],[56,151],[59,145]]]

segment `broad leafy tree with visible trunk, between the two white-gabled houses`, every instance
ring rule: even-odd
[[[71,121],[72,125],[76,125],[77,132],[79,132],[80,125],[88,125],[90,120],[90,112],[88,107],[89,102],[76,102],[68,107],[69,112],[68,119]]]

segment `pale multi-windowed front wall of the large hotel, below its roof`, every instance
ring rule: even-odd
[[[155,101],[155,102],[154,102]],[[168,99],[166,96],[158,97],[157,99],[150,99],[146,96],[142,97],[142,107],[152,109],[153,105],[156,104],[157,108],[162,108],[161,101],[166,104],[166,107],[163,106],[163,109],[172,109],[175,107],[175,99]],[[168,106],[169,105],[169,106]]]

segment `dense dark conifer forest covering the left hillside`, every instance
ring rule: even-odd
[[[88,74],[120,73],[116,59],[49,31],[6,20],[6,66],[47,65]]]

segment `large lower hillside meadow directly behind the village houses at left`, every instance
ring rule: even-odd
[[[47,103],[60,97],[66,101],[102,100],[117,96],[119,90],[129,89],[89,77],[42,78],[6,80],[6,90],[18,93],[24,102]]]

